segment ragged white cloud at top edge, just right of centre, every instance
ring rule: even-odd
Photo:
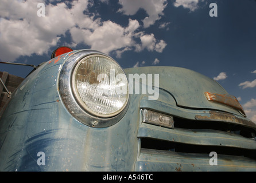
[[[143,26],[146,28],[161,19],[167,0],[119,0],[119,3],[122,8],[118,11],[126,15],[134,15],[139,9],[144,9],[149,15],[142,20]]]

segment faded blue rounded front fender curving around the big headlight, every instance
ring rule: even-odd
[[[58,93],[63,58],[34,71],[13,93],[0,120],[0,171],[131,171],[137,159],[139,96],[108,128],[90,128],[68,113]],[[137,107],[136,107],[137,106]],[[45,165],[38,165],[38,152]]]

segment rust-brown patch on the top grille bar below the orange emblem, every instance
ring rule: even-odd
[[[202,121],[223,121],[256,129],[256,124],[247,118],[238,118],[234,114],[225,112],[210,111],[205,115],[196,115],[195,119]]]

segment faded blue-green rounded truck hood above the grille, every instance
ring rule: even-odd
[[[196,71],[168,66],[134,67],[124,71],[126,74],[159,74],[159,88],[168,91],[182,108],[219,110],[245,117],[237,109],[208,100],[205,93],[230,95],[214,79]]]

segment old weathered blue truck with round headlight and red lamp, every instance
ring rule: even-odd
[[[195,71],[60,47],[0,76],[0,171],[256,171],[256,124]]]

